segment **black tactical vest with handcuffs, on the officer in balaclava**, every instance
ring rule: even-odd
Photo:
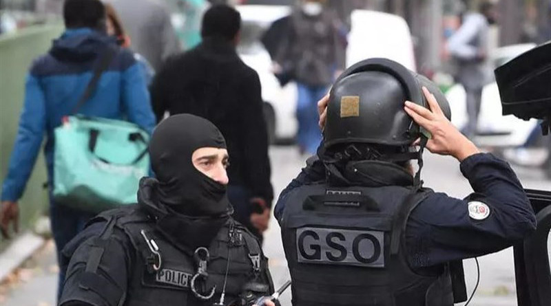
[[[225,283],[225,305],[242,305],[247,298],[269,295],[273,289],[262,277],[267,273],[267,260],[258,241],[231,218],[209,246],[205,262],[200,262],[195,250],[177,248],[167,241],[141,210],[132,209],[122,216],[104,213],[96,219],[107,220],[107,231],[121,228],[134,247],[134,267],[120,305],[213,305],[218,303]],[[206,270],[196,276],[199,267]],[[194,290],[205,298],[198,298]]]

